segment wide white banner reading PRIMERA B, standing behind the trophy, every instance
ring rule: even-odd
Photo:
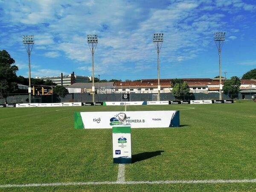
[[[76,112],[75,128],[102,129],[113,125],[131,125],[132,128],[166,128],[180,126],[179,111],[99,111]],[[122,116],[126,116],[122,122]]]

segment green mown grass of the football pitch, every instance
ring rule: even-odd
[[[57,111],[56,111],[57,110]],[[116,181],[111,129],[74,129],[74,112],[125,106],[0,109],[0,185]],[[256,179],[256,103],[127,106],[180,110],[180,128],[132,129],[125,181]],[[0,191],[255,191],[256,183],[0,187]]]

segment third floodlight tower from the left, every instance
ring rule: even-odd
[[[153,34],[153,43],[155,48],[157,49],[157,90],[158,90],[158,95],[157,95],[157,101],[160,101],[160,90],[161,90],[161,86],[160,86],[160,71],[159,71],[159,53],[160,53],[160,49],[162,47],[163,44],[163,33],[154,33]]]

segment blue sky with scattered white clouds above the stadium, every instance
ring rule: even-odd
[[[22,35],[35,36],[32,77],[92,76],[87,34],[99,37],[94,74],[100,79],[157,79],[155,32],[164,33],[161,79],[218,76],[214,32],[226,32],[227,78],[256,68],[255,0],[0,0],[0,26],[0,49],[25,77]]]

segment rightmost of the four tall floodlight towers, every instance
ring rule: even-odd
[[[224,44],[225,41],[225,32],[215,32],[215,44],[217,46],[218,49],[218,53],[219,53],[219,70],[220,70],[220,84],[219,84],[219,88],[220,88],[220,100],[222,99],[222,84],[221,84],[221,48]],[[218,42],[218,43],[217,43]]]

